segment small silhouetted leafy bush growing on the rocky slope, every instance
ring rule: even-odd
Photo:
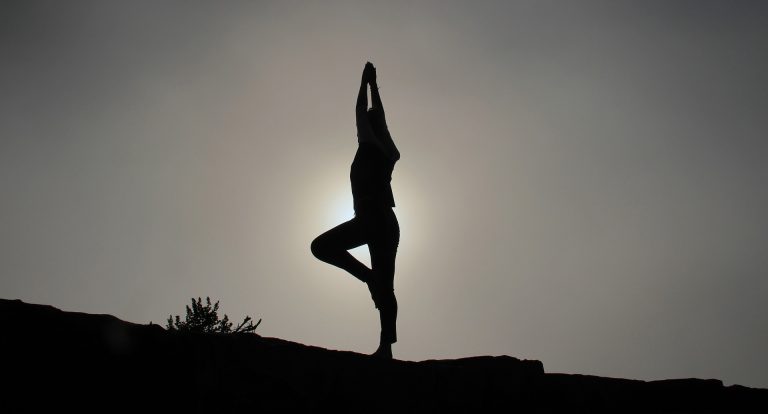
[[[205,305],[200,298],[192,298],[192,307],[187,306],[187,316],[182,321],[179,315],[168,316],[168,325],[166,328],[169,331],[182,331],[182,332],[197,332],[197,333],[253,333],[261,323],[261,319],[253,324],[253,319],[250,316],[246,316],[235,329],[232,329],[232,322],[229,321],[229,317],[224,314],[223,319],[219,319],[219,301],[211,305],[211,298],[205,298]]]

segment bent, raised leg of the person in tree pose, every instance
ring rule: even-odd
[[[317,236],[312,241],[312,254],[367,283],[371,277],[371,269],[348,251],[368,243],[365,236],[360,221],[353,218]]]

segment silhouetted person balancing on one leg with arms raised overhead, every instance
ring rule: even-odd
[[[368,85],[373,101],[370,110]],[[391,359],[392,344],[397,342],[394,278],[400,227],[392,211],[395,200],[390,181],[400,152],[387,129],[376,83],[376,68],[371,62],[367,62],[363,69],[355,119],[358,147],[349,174],[355,217],[318,236],[312,242],[312,254],[368,285],[381,320],[379,348],[372,355]],[[370,269],[348,252],[364,244],[368,245],[371,254]]]

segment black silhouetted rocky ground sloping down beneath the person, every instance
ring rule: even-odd
[[[2,412],[768,412],[719,380],[547,374],[481,356],[377,361],[254,334],[184,334],[0,299]]]

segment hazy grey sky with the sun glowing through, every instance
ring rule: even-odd
[[[767,39],[759,1],[4,1],[0,297],[372,352],[309,250],[371,60],[397,357],[768,387]]]

